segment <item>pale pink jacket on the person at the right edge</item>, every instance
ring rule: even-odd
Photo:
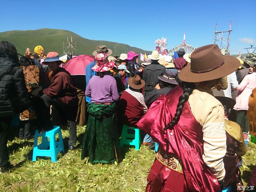
[[[252,74],[246,75],[236,89],[239,93],[236,97],[235,110],[248,110],[249,97],[255,87],[256,72],[253,72]]]

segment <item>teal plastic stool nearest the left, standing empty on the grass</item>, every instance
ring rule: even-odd
[[[55,136],[57,134],[59,134],[59,141],[55,140]],[[39,145],[37,145],[38,137],[42,137],[42,143],[40,143]],[[48,138],[49,138],[49,141],[48,141]],[[61,129],[59,126],[54,126],[52,130],[46,131],[44,133],[38,133],[38,130],[35,131],[32,161],[36,161],[37,156],[41,156],[41,157],[50,157],[52,162],[57,162],[57,155],[61,151],[64,153],[63,138],[62,138]]]

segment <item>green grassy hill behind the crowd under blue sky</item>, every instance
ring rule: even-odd
[[[120,44],[110,41],[95,41],[83,38],[71,31],[60,29],[38,29],[26,31],[5,31],[0,33],[0,41],[10,41],[16,46],[18,53],[24,54],[26,48],[34,51],[35,46],[42,45],[45,53],[55,51],[63,56],[63,42],[67,42],[67,37],[72,35],[73,42],[76,42],[76,54],[92,54],[97,45],[106,45],[112,49],[113,56],[119,56],[121,53],[134,51],[135,53],[144,53],[145,50],[131,47],[126,44]]]

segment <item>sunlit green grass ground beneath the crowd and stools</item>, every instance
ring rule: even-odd
[[[57,163],[52,163],[49,158],[38,158],[32,162],[33,140],[14,138],[8,142],[10,162],[15,168],[11,173],[0,174],[0,191],[144,191],[154,161],[153,150],[145,146],[141,146],[140,151],[126,148],[120,164],[92,165],[87,158],[80,159],[84,130],[85,127],[78,127],[78,147],[60,154]],[[68,130],[63,130],[62,134],[64,145],[67,145]],[[249,180],[255,162],[255,144],[249,143],[241,167],[244,185]]]

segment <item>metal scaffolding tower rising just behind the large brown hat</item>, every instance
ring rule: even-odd
[[[219,45],[219,49],[226,49],[229,52],[229,43],[230,43],[230,32],[231,30],[231,20],[229,22],[228,31],[217,31],[218,24],[216,23],[214,31],[214,44]]]

